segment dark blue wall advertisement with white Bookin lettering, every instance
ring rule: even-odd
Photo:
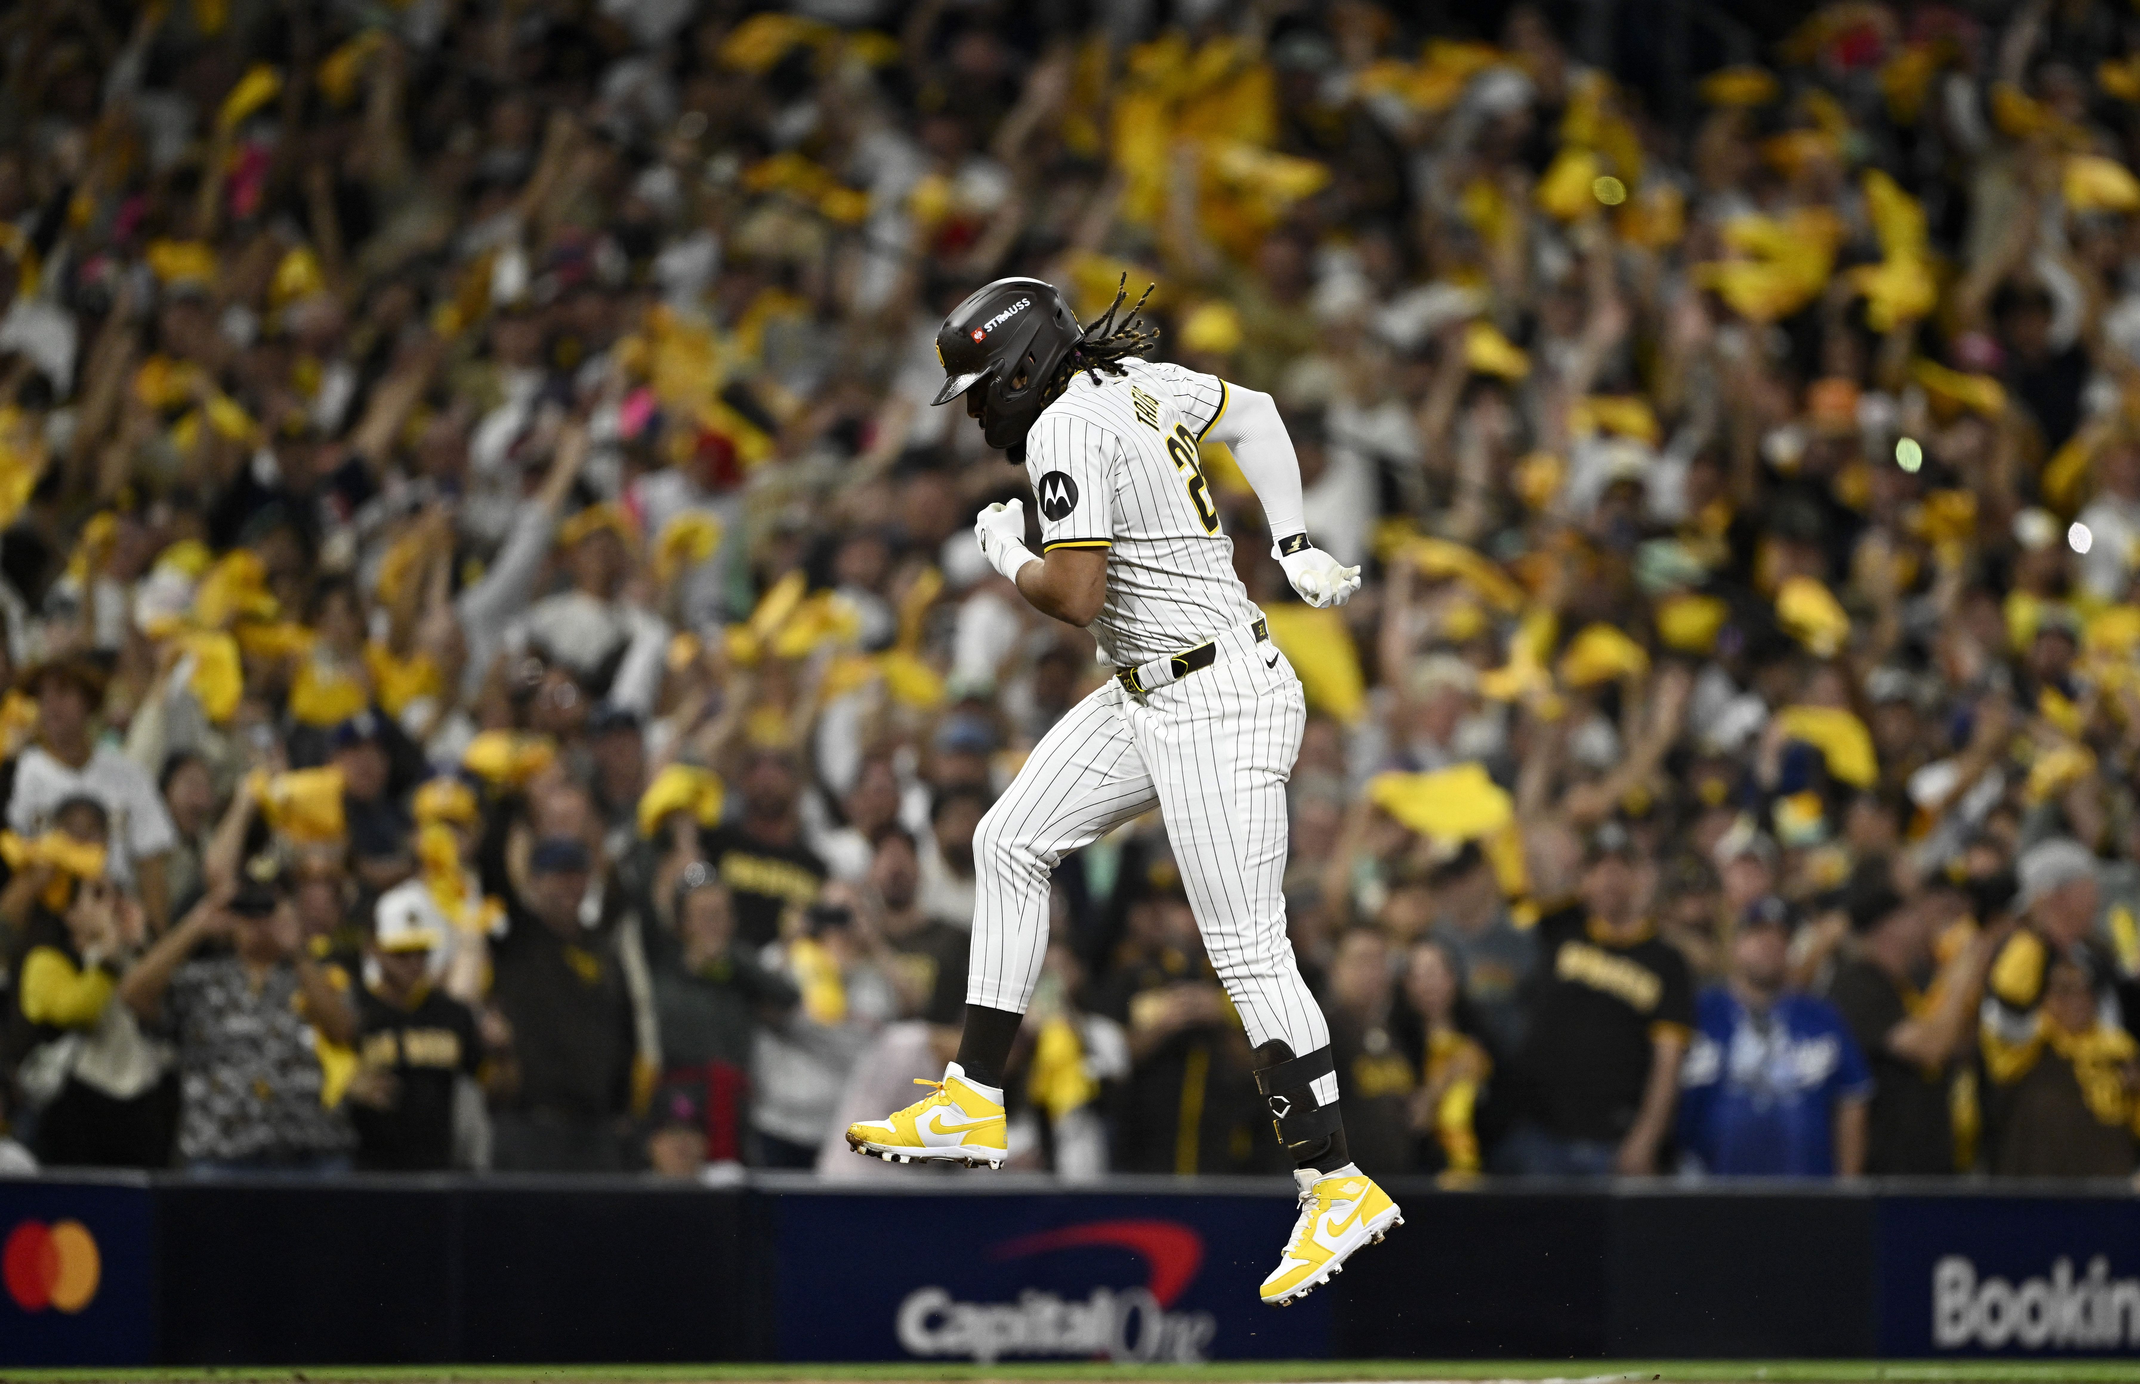
[[[1885,1356],[2140,1354],[2140,1204],[1883,1198],[1879,1294]]]

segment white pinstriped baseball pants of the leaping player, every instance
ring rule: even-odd
[[[1269,663],[1267,663],[1269,661]],[[965,1001],[1025,1012],[1049,945],[1049,875],[1158,804],[1196,931],[1250,1046],[1295,1057],[1329,1025],[1286,937],[1286,781],[1308,706],[1293,665],[1245,631],[1203,667],[1138,704],[1119,680],[1040,738],[974,832],[976,905]],[[1318,1082],[1320,1087],[1323,1082]],[[1335,1099],[1335,1080],[1320,1099]]]

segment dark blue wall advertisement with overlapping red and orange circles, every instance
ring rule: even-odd
[[[0,1365],[148,1365],[150,1191],[0,1181]]]

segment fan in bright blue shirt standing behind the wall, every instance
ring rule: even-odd
[[[1701,993],[1680,1070],[1680,1151],[1718,1177],[1855,1177],[1872,1076],[1825,999],[1787,993],[1791,922],[1778,898],[1746,911],[1731,978]]]

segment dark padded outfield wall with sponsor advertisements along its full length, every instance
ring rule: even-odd
[[[1393,1185],[1267,1309],[1286,1183],[0,1183],[0,1367],[2140,1354],[2123,1185]]]

